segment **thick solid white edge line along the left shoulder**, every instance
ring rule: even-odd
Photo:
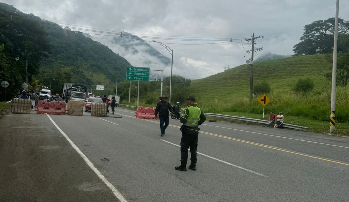
[[[85,156],[84,153],[77,147],[72,140],[58,127],[58,125],[52,120],[50,115],[47,114],[47,116],[50,118],[53,125],[61,132],[61,134],[68,140],[68,142],[72,145],[72,147],[79,153],[79,155],[84,159],[84,161],[87,163],[87,165],[90,166],[90,168],[97,174],[99,178],[110,188],[110,190],[113,192],[114,196],[117,197],[121,202],[127,202],[124,196],[121,195],[121,193],[105,178],[105,176],[98,171],[98,169],[95,167],[95,165],[92,164],[92,162]]]

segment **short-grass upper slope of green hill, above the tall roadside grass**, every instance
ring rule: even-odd
[[[331,88],[331,82],[322,74],[330,71],[330,65],[321,54],[259,62],[254,64],[253,84],[268,81],[273,92],[289,92],[298,78],[309,77],[315,84],[313,93],[326,91]],[[194,80],[190,91],[202,103],[216,100],[230,102],[249,96],[250,70],[247,65],[240,65],[204,79]]]

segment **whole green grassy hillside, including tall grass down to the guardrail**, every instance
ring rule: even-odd
[[[271,86],[270,98],[265,107],[265,120],[270,111],[285,116],[285,123],[303,125],[314,132],[328,132],[331,109],[331,82],[323,76],[331,72],[324,55],[296,56],[254,64],[254,80],[267,81]],[[310,78],[314,89],[307,95],[293,89],[299,78]],[[191,95],[205,112],[262,118],[263,107],[256,95],[249,99],[250,72],[246,65],[240,65],[213,76],[194,80],[190,86]],[[349,134],[349,88],[336,88],[336,130],[335,134]]]

